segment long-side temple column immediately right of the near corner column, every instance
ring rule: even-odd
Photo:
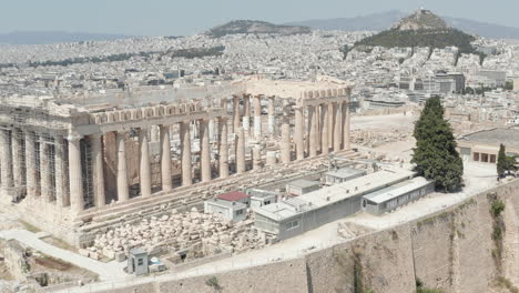
[[[94,205],[100,208],[106,204],[106,193],[104,191],[104,155],[103,155],[103,134],[96,133],[90,135],[90,145],[92,150],[92,176],[94,191]]]

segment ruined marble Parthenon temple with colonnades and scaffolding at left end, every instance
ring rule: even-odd
[[[308,87],[11,98],[0,109],[2,202],[68,229],[132,202],[348,150],[350,89]]]

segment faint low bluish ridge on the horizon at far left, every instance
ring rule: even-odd
[[[65,31],[13,31],[0,33],[0,43],[8,44],[47,44],[80,41],[106,41],[132,38],[124,34],[86,33]]]

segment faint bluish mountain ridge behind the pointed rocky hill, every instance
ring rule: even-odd
[[[345,31],[360,31],[372,30],[381,31],[399,19],[404,18],[407,13],[391,10],[381,13],[368,14],[356,18],[335,18],[335,19],[315,19],[297,22],[284,23],[287,26],[305,26],[313,29],[320,30],[345,30]],[[495,39],[519,39],[519,28],[511,28],[500,24],[492,24],[479,22],[462,18],[442,17],[447,26],[462,30],[468,33],[495,38]]]

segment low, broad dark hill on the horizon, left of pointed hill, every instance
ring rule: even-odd
[[[233,20],[223,26],[215,27],[206,32],[208,36],[220,38],[226,34],[236,33],[281,33],[298,34],[309,33],[312,30],[301,26],[278,26],[266,21],[257,20]]]

